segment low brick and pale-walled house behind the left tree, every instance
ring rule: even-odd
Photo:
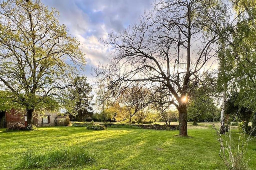
[[[33,122],[35,126],[55,126],[56,120],[62,116],[58,116],[57,112],[47,112],[44,115],[35,114],[33,116]],[[18,112],[15,109],[11,111],[0,112],[0,128],[9,127],[14,123],[22,122],[27,125],[26,112]]]

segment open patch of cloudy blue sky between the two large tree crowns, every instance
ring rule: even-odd
[[[108,33],[123,31],[144,13],[153,9],[152,0],[42,0],[48,8],[60,13],[59,23],[78,38],[86,54],[85,75],[90,81],[92,67],[107,64],[110,50],[100,42]]]

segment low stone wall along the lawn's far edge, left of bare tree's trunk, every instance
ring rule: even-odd
[[[100,125],[104,125],[106,127],[110,127],[111,125],[115,125],[114,123],[102,123]],[[118,124],[118,125],[126,125],[126,124]],[[178,130],[178,125],[147,125],[147,124],[127,124],[132,126],[138,126],[143,129],[155,129],[155,130]]]

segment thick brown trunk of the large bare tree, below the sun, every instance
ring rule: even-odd
[[[179,135],[187,136],[187,105],[182,103],[178,107],[179,111]]]

